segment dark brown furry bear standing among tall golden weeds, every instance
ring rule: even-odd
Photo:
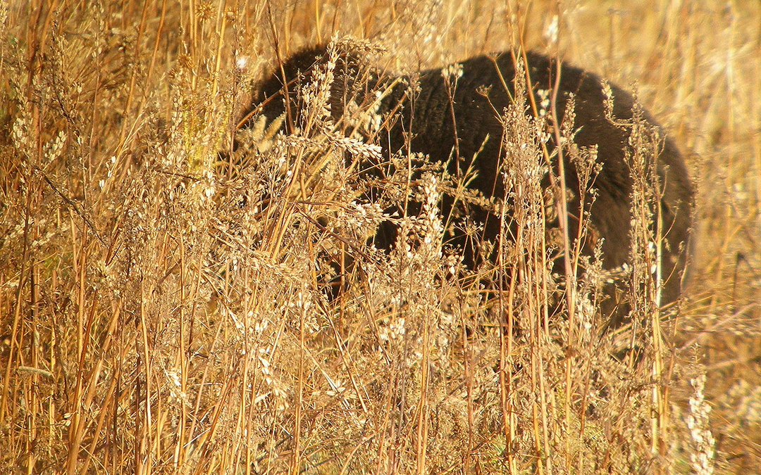
[[[448,160],[448,171],[452,176],[460,176],[463,170],[475,166],[478,175],[470,182],[470,187],[488,198],[502,198],[505,196],[505,187],[499,170],[503,126],[497,112],[501,112],[512,101],[514,58],[518,54],[503,52],[460,62],[461,76],[454,87],[454,82],[447,84],[444,81],[441,68],[422,71],[413,78],[391,76],[373,68],[364,69],[355,55],[344,53],[339,56],[334,70],[335,81],[330,97],[333,119],[342,116],[346,100],[361,103],[367,98],[374,98],[374,91],[383,89],[387,84],[395,84],[380,104],[381,112],[393,112],[396,115],[396,119],[387,121],[390,125],[376,138],[385,156],[403,150],[410,137],[406,132],[411,131],[410,151],[421,152],[435,162],[446,163]],[[282,64],[282,68],[276,68],[275,74],[263,82],[249,115],[250,112],[261,112],[272,120],[286,112],[286,127],[298,125],[301,105],[295,89],[298,84],[310,81],[316,68],[324,67],[326,58],[325,47],[304,49],[291,56]],[[525,59],[528,84],[533,89],[536,103],[546,99],[546,93],[540,97],[539,91],[552,90],[556,84],[556,74],[560,71],[556,101],[558,122],[562,123],[567,98],[573,94],[575,143],[586,147],[597,146],[597,160],[602,167],[594,180],[597,198],[591,204],[591,224],[594,236],[604,239],[603,268],[617,268],[630,258],[632,177],[625,161],[625,154],[630,148],[630,129],[613,125],[607,119],[604,106],[607,95],[603,90],[603,81],[596,74],[565,63],[561,63],[558,68],[555,59],[535,52],[527,52]],[[631,121],[634,115],[632,95],[612,84],[610,89],[613,96],[613,118],[620,123]],[[488,93],[485,94],[485,91]],[[647,112],[642,114],[642,119],[655,131],[659,131],[661,137],[657,173],[664,188],[661,213],[666,239],[662,273],[666,280],[661,303],[666,304],[675,301],[680,294],[680,277],[686,265],[694,192],[683,158],[673,141],[661,131]],[[456,124],[457,133],[453,124]],[[458,140],[457,149],[455,137]],[[551,149],[554,147],[553,140],[549,141],[549,146]],[[451,160],[455,152],[459,160]],[[471,163],[474,156],[476,162]],[[572,191],[579,189],[575,170],[575,165],[566,159],[565,185]],[[545,180],[544,185],[549,185],[549,179]],[[576,236],[577,233],[579,201],[578,197],[568,201],[569,236]],[[451,198],[444,196],[441,210],[444,217],[452,211],[451,202]],[[587,197],[585,205],[589,206],[589,203]],[[482,238],[495,241],[499,232],[498,217],[495,214],[473,206],[462,214],[482,224]],[[450,233],[451,236],[445,236],[445,240],[460,249],[466,265],[473,268],[484,259],[494,258],[493,250],[484,251],[471,245],[472,239],[466,239],[461,232],[457,234],[457,230],[451,230]],[[378,247],[390,248],[393,239],[393,227],[381,226],[376,236]],[[585,246],[585,252],[591,252],[591,247]],[[608,316],[613,320],[611,323],[615,326],[626,315],[626,305],[619,305],[618,299],[609,299],[603,305],[603,312],[609,313]]]

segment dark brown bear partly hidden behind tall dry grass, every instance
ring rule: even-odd
[[[263,115],[271,121],[285,116],[285,127],[294,130],[301,120],[299,111],[303,109],[301,96],[296,93],[300,85],[307,84],[315,71],[325,68],[329,58],[326,46],[303,49],[292,55],[274,73],[260,84],[259,93],[247,110],[247,117]],[[552,183],[552,175],[559,177],[561,156],[556,149],[555,131],[570,112],[567,112],[572,98],[573,123],[572,141],[579,148],[597,150],[597,175],[591,188],[594,193],[578,196],[580,189],[577,165],[562,154],[565,188],[567,196],[568,236],[578,236],[578,222],[581,210],[589,212],[589,227],[584,233],[586,242],[581,249],[591,255],[595,243],[603,239],[602,265],[604,269],[621,268],[631,260],[632,190],[634,178],[630,169],[634,156],[630,138],[632,125],[638,123],[648,128],[655,145],[650,161],[653,170],[645,179],[654,195],[659,197],[662,242],[661,304],[674,302],[680,296],[680,280],[685,271],[687,241],[691,227],[693,207],[693,185],[689,180],[682,155],[673,140],[658,125],[652,116],[635,104],[632,94],[607,84],[597,74],[558,62],[557,59],[537,52],[501,52],[496,55],[479,55],[457,63],[454,68],[434,68],[418,74],[388,74],[371,65],[366,65],[361,55],[355,52],[333,53],[333,84],[330,87],[330,116],[339,121],[347,104],[375,101],[375,110],[384,117],[380,131],[366,132],[366,138],[380,145],[384,157],[393,154],[420,153],[430,163],[446,166],[451,176],[463,176],[473,172],[468,182],[471,191],[489,199],[508,199],[510,190],[505,189],[502,173],[505,156],[505,141],[502,140],[505,125],[501,117],[506,107],[514,104],[516,92],[529,90],[531,96],[524,97],[526,114],[537,116],[542,113],[549,124],[543,143],[546,144],[546,176],[543,187]],[[521,67],[517,68],[517,62]],[[444,71],[454,71],[446,73]],[[523,77],[516,78],[516,73]],[[450,74],[447,77],[447,74]],[[516,81],[523,86],[517,88]],[[552,95],[552,91],[555,95]],[[380,91],[383,91],[381,94]],[[380,102],[378,99],[380,98]],[[555,109],[541,105],[554,98]],[[612,102],[612,108],[610,106]],[[551,112],[554,112],[552,114]],[[244,126],[250,126],[254,119],[247,119]],[[556,122],[553,122],[556,121]],[[657,155],[657,157],[655,157]],[[383,167],[372,164],[367,173],[382,175]],[[372,199],[372,194],[366,199]],[[593,196],[594,195],[594,198]],[[495,259],[495,246],[501,226],[501,219],[494,207],[457,201],[446,194],[441,201],[441,213],[445,219],[457,215],[477,224],[481,242],[473,242],[463,226],[447,226],[444,241],[453,246],[463,262],[475,268],[483,261]],[[409,204],[416,207],[413,202]],[[419,204],[417,204],[419,207]],[[414,213],[409,210],[408,213]],[[654,212],[654,215],[658,213]],[[556,219],[556,218],[555,218]],[[395,226],[381,225],[374,237],[378,248],[390,249],[396,239]],[[557,226],[548,224],[548,226]],[[506,236],[502,236],[505,238]],[[509,236],[507,236],[509,239]],[[556,258],[555,270],[562,271],[562,258]],[[619,287],[608,285],[605,293],[621,294]],[[602,306],[610,318],[610,325],[619,325],[628,307],[626,298],[609,295]]]

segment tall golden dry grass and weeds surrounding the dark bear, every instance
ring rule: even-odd
[[[758,2],[34,0],[0,32],[2,473],[761,472]],[[635,263],[644,325],[603,333],[600,276],[547,271],[576,250],[546,242],[539,150],[508,147],[501,298],[441,252],[439,169],[381,184],[424,206],[369,248],[377,147],[326,128],[330,71],[313,130],[220,155],[275,43],[334,36],[395,71],[522,46],[636,89],[699,189],[680,308]]]

